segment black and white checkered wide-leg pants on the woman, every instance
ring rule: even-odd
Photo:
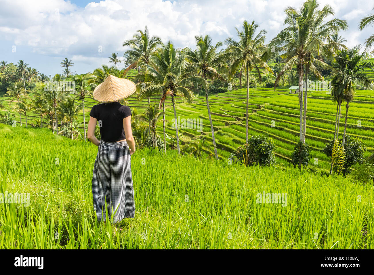
[[[95,208],[99,221],[106,221],[105,199],[108,217],[109,220],[113,218],[111,220],[113,223],[125,218],[134,218],[131,156],[126,141],[105,142],[100,140],[93,166],[92,196],[93,208]]]

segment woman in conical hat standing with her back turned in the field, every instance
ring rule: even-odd
[[[93,91],[93,98],[102,102],[91,109],[87,134],[99,147],[92,175],[93,207],[99,221],[106,221],[105,206],[112,223],[134,218],[130,156],[135,153],[135,141],[131,110],[119,100],[133,94],[135,89],[131,80],[109,75]],[[96,123],[99,123],[100,141],[95,137]]]

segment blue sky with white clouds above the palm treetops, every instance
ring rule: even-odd
[[[302,0],[0,0],[0,61],[23,59],[40,73],[62,73],[60,62],[72,59],[76,73],[108,64],[122,44],[148,26],[163,42],[194,48],[194,36],[209,34],[214,42],[235,36],[243,20],[267,30],[267,41],[283,28],[286,6]],[[364,44],[374,28],[358,30],[359,20],[373,13],[374,0],[320,0],[349,29],[341,35],[347,46]],[[102,49],[100,52],[99,49]],[[120,66],[122,68],[122,66]]]

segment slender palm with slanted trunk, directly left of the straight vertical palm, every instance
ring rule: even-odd
[[[217,42],[216,45],[212,45],[212,39],[210,36],[195,36],[195,43],[197,50],[188,52],[187,56],[190,62],[196,67],[197,75],[202,76],[203,79],[222,79],[221,74],[217,72],[214,67],[219,67],[221,69],[227,68],[225,63],[225,56],[218,55],[218,48],[222,46],[221,42]],[[208,109],[208,117],[211,125],[212,140],[214,147],[214,156],[217,159],[217,146],[215,144],[214,138],[214,128],[212,123],[211,111],[209,108],[209,98],[208,98],[208,86],[205,86],[205,97],[206,97],[206,107]]]

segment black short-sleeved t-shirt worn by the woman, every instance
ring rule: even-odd
[[[97,104],[92,107],[90,116],[98,120],[102,140],[116,142],[126,138],[123,119],[131,116],[129,106],[119,102]]]

